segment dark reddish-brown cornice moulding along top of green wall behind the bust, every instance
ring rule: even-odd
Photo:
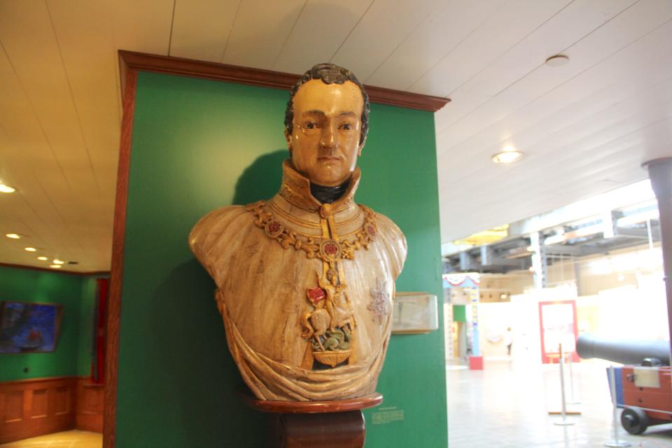
[[[125,70],[153,71],[170,75],[190,76],[193,78],[213,79],[261,87],[273,87],[289,90],[301,78],[300,75],[261,69],[250,69],[215,62],[195,61],[181,57],[148,55],[146,53],[119,51],[120,67]],[[125,79],[124,76],[121,77]],[[123,81],[122,81],[123,83]],[[386,89],[365,85],[371,102],[400,106],[408,109],[436,112],[450,102],[450,99],[433,97],[402,90]]]

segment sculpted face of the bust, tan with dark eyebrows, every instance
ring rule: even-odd
[[[292,164],[311,183],[339,186],[350,178],[361,153],[364,99],[346,81],[309,80],[294,95],[293,131],[285,133]]]

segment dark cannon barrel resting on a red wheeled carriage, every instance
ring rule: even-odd
[[[601,339],[580,335],[576,352],[581,358],[600,358],[622,364],[641,364],[645,358],[658,358],[670,365],[668,341],[637,341],[631,339]]]

